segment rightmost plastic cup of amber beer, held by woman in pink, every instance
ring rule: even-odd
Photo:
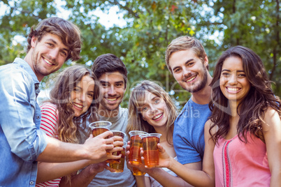
[[[156,167],[159,165],[159,149],[157,144],[160,141],[161,134],[150,133],[141,135],[143,141],[143,157],[145,158],[145,166]]]

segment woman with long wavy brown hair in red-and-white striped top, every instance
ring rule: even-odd
[[[62,142],[83,143],[80,141],[80,133],[85,131],[87,120],[92,122],[97,119],[99,87],[95,80],[92,70],[84,66],[71,66],[60,73],[55,87],[50,91],[50,100],[41,105],[41,130]],[[87,137],[89,135],[90,132],[87,132]],[[103,133],[100,140],[103,141],[107,136],[108,133]],[[96,146],[101,146],[101,142],[97,140]],[[36,186],[59,186],[62,177],[66,176],[63,179],[70,181],[71,173],[77,173],[87,165],[97,168],[96,173],[104,168],[110,170],[103,162],[107,159],[108,157],[94,162],[79,160],[72,163],[38,163]]]

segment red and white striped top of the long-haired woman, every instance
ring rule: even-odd
[[[40,128],[46,135],[50,137],[58,138],[57,136],[57,120],[59,114],[57,112],[57,106],[52,103],[43,103],[41,107],[41,125]],[[45,181],[43,183],[37,183],[37,187],[49,187],[59,186],[59,182],[62,178],[54,179],[52,181]]]

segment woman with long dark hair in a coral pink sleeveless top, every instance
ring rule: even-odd
[[[281,102],[260,57],[231,47],[213,74],[202,171],[184,167],[159,145],[161,167],[192,186],[280,186]]]

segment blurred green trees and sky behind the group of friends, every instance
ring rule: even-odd
[[[275,95],[281,96],[280,2],[278,0],[2,0],[0,1],[0,66],[25,56],[31,26],[46,17],[63,17],[80,27],[82,59],[113,53],[124,61],[129,84],[122,103],[138,81],[155,80],[179,109],[190,93],[181,89],[165,64],[165,50],[178,36],[194,36],[206,49],[210,73],[222,52],[243,45],[264,61]],[[62,70],[62,69],[61,69]],[[59,71],[61,71],[59,70]],[[41,90],[48,90],[45,77]]]

